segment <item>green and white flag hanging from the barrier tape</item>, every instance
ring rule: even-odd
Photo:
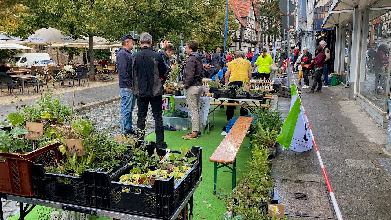
[[[301,152],[311,150],[312,135],[304,117],[301,100],[297,96],[296,85],[292,84],[291,108],[277,137],[277,142],[286,149]]]

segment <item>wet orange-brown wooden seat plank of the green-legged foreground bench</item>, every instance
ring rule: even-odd
[[[239,117],[235,124],[233,124],[230,132],[224,137],[213,155],[209,158],[209,161],[232,164],[235,161],[240,146],[242,146],[244,137],[246,137],[252,121],[253,117]]]

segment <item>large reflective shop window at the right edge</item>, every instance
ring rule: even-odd
[[[381,34],[388,28],[381,19],[384,14],[384,10],[371,11],[370,9],[363,14],[363,25],[368,28],[364,29],[367,31],[363,36],[366,50],[360,56],[361,67],[364,68],[360,68],[359,72],[359,94],[383,112],[387,110],[390,97],[389,85],[387,87],[390,80],[388,67],[390,45],[384,41]]]

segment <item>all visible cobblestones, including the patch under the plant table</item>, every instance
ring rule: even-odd
[[[119,115],[120,115],[121,101],[115,101],[106,105],[101,105],[95,108],[91,108],[91,111],[85,110],[80,112],[78,115],[85,117],[86,115],[91,119],[95,118],[93,121],[97,123],[97,127],[103,131],[107,132],[109,135],[120,135],[121,128],[119,125]],[[145,129],[147,129],[147,134],[154,132],[155,122],[153,120],[151,106],[149,106],[149,111],[147,113],[147,121],[145,123]],[[133,126],[136,127],[137,124],[137,104],[133,110]],[[19,203],[14,201],[5,200],[2,198],[3,205],[3,216],[7,220],[14,215],[19,214]]]

